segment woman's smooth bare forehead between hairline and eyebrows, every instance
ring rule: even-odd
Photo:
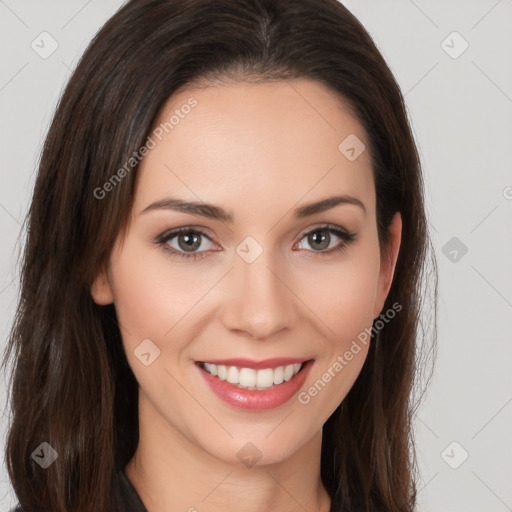
[[[335,192],[374,209],[369,151],[356,159],[345,152],[368,146],[365,131],[315,81],[187,88],[167,101],[149,136],[154,147],[137,171],[139,211],[166,195],[263,212]]]

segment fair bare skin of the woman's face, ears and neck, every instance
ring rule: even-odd
[[[197,106],[141,162],[127,230],[91,288],[98,304],[114,302],[140,385],[140,442],[126,473],[149,512],[328,511],[320,480],[322,426],[359,375],[368,346],[361,344],[308,404],[295,396],[261,412],[217,398],[194,361],[315,359],[301,388],[307,390],[383,312],[401,218],[395,215],[389,250],[381,252],[369,151],[349,161],[338,150],[349,134],[365,142],[365,132],[322,84],[181,90],[155,126],[191,96]],[[365,210],[340,204],[294,217],[295,208],[334,193],[359,199]],[[170,196],[221,206],[234,222],[170,209],[141,214]],[[356,238],[322,256],[344,243],[331,234],[328,249],[311,245],[305,234],[325,224]],[[210,237],[200,237],[196,250],[204,258],[173,257],[154,242],[179,227]],[[247,236],[263,249],[252,263],[236,252]],[[178,242],[168,244],[183,252]],[[148,338],[161,353],[144,366],[134,350]],[[252,467],[237,457],[247,442],[261,452]]]

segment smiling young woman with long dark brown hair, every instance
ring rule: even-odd
[[[413,510],[428,248],[402,95],[340,3],[128,2],[28,215],[19,510]]]

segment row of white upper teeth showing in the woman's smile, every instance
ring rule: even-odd
[[[299,373],[301,368],[301,363],[278,366],[277,368],[264,368],[263,370],[204,363],[204,369],[220,380],[226,380],[240,388],[258,390],[269,389],[274,385],[289,381]]]

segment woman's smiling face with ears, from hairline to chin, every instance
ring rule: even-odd
[[[366,135],[296,80],[182,90],[150,137],[92,287],[115,304],[141,422],[228,463],[284,460],[347,395],[391,283],[400,217],[381,257]]]

